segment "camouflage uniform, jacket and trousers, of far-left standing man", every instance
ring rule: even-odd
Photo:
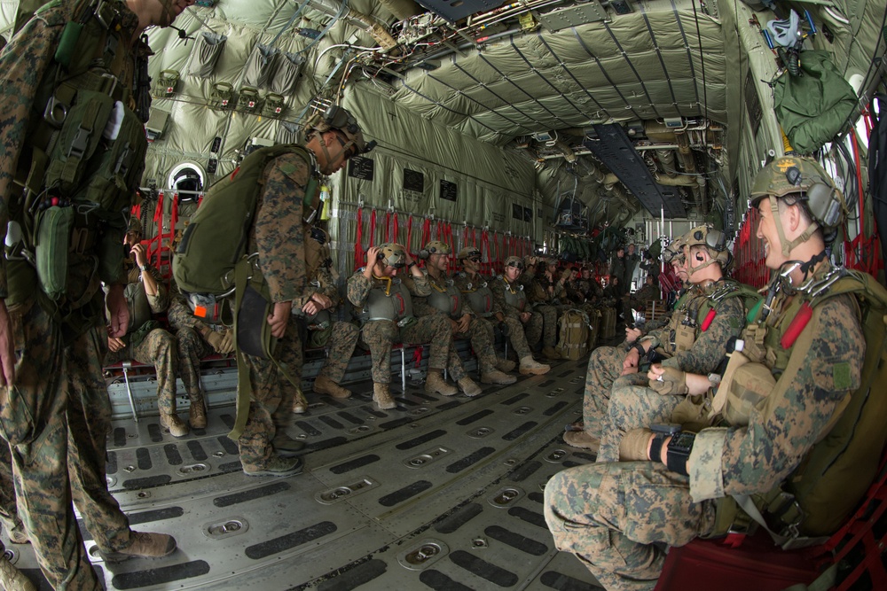
[[[131,58],[146,51],[146,46],[137,43],[130,48],[138,19],[125,5],[118,8],[117,47],[123,70],[117,73],[117,88],[128,91],[133,81]],[[0,232],[5,232],[11,208],[20,208],[20,188],[12,179],[17,164],[24,171],[29,166],[19,156],[28,126],[39,116],[32,120],[32,114],[43,113],[43,105],[35,105],[36,93],[74,9],[74,2],[47,5],[0,53]],[[130,105],[134,105],[131,98]],[[106,227],[106,236],[122,245],[125,229],[122,218],[119,227]],[[10,310],[17,352],[15,385],[0,389],[6,400],[0,411],[0,434],[12,447],[20,517],[43,574],[56,588],[101,588],[83,548],[72,494],[99,548],[117,550],[131,543],[127,518],[107,491],[111,408],[101,373],[107,338],[102,292],[93,275],[98,247],[92,249],[68,256],[68,293],[92,297],[77,298],[86,302],[75,313],[81,322],[76,329],[69,325],[64,334],[60,323],[34,298],[19,302],[8,298],[10,267],[7,261],[0,263],[0,297]],[[13,281],[9,286],[13,292],[37,291]]]

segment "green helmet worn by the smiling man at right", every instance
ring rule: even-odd
[[[844,195],[820,167],[819,162],[799,156],[774,159],[757,173],[751,185],[751,206],[768,195],[783,197],[800,193],[813,219],[823,228],[836,228],[844,221]]]

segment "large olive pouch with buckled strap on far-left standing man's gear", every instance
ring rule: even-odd
[[[112,97],[93,90],[77,90],[74,105],[65,117],[59,140],[50,154],[46,188],[58,190],[64,197],[76,191],[113,112]]]

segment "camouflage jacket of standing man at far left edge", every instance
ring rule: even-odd
[[[138,18],[125,3],[119,4],[122,14],[119,36],[129,40],[138,26]],[[3,237],[9,222],[11,199],[18,191],[13,179],[17,170],[27,171],[29,167],[29,162],[20,159],[20,155],[33,125],[32,116],[42,114],[45,106],[34,104],[36,94],[44,75],[53,65],[62,30],[78,6],[82,3],[75,0],[54,0],[46,4],[0,51],[0,235]],[[144,50],[145,46],[136,42],[122,49],[129,51],[131,56]],[[119,83],[130,87],[132,80],[131,75],[122,75]],[[0,298],[5,298],[7,293],[5,259],[0,257]]]

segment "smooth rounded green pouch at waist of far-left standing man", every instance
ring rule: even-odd
[[[35,259],[40,288],[57,301],[67,288],[67,251],[74,223],[72,207],[48,207],[37,216]]]

